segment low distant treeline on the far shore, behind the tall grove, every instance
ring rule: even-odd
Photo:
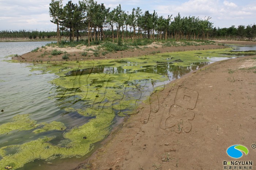
[[[111,29],[104,29],[104,37],[110,37],[114,36],[114,38],[117,37],[117,29],[114,29],[113,32]],[[181,31],[182,32],[182,31]],[[132,38],[133,32],[127,30],[124,31],[125,38]],[[36,40],[44,40],[44,39],[56,39],[57,38],[57,32],[56,31],[26,31],[26,30],[19,30],[19,31],[0,31],[0,39],[1,40],[12,40],[12,39],[36,39]],[[168,38],[174,38],[174,35],[170,35],[167,33]],[[62,38],[68,39],[70,36],[69,31],[60,31],[60,36]],[[75,33],[75,36],[77,36],[77,33]],[[88,32],[87,30],[79,31],[80,38],[87,38]],[[145,33],[142,33],[142,35],[139,36],[139,33],[135,33],[136,37],[147,37]],[[155,38],[159,38],[159,35],[154,35]],[[201,34],[197,38],[201,38]],[[247,25],[246,27],[244,25],[239,25],[238,27],[235,27],[232,25],[229,28],[211,28],[208,31],[208,39],[224,39],[224,40],[255,40],[256,38],[256,25]],[[180,37],[180,39],[187,39],[186,32]]]

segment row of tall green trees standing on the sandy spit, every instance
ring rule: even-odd
[[[69,30],[69,40],[74,37],[79,39],[79,31],[88,32],[88,43],[91,40],[103,40],[104,30],[112,31],[112,39],[148,38],[148,39],[202,39],[208,38],[212,29],[210,17],[199,19],[199,17],[181,17],[178,14],[167,18],[158,16],[154,11],[150,13],[138,8],[131,12],[125,12],[119,4],[110,11],[104,4],[97,4],[94,0],[82,0],[79,4],[72,1],[63,7],[62,0],[52,0],[49,8],[52,22],[57,24],[57,40],[60,41],[60,30]],[[114,36],[116,30],[116,36]],[[124,35],[125,34],[125,35]],[[128,35],[129,34],[129,35]]]

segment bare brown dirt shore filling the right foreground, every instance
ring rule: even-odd
[[[167,84],[76,169],[225,169],[223,161],[256,169],[255,66],[256,56],[223,60]],[[249,153],[231,158],[232,145]]]

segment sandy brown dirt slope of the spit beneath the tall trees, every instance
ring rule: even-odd
[[[56,49],[58,51],[65,51],[69,54],[68,61],[71,60],[101,60],[101,59],[117,59],[117,58],[127,58],[133,56],[140,56],[140,55],[151,55],[153,53],[163,53],[163,52],[175,52],[175,51],[188,51],[188,50],[209,50],[209,49],[220,49],[225,48],[225,46],[219,46],[216,44],[210,45],[201,45],[201,46],[178,46],[178,47],[165,47],[158,44],[150,44],[148,46],[141,46],[139,49],[129,49],[125,51],[117,51],[108,53],[106,55],[102,55],[99,53],[99,56],[95,57],[93,55],[92,50],[97,50],[97,46],[82,46],[82,47],[66,47],[66,48],[58,48],[58,47],[45,47],[40,48],[37,52],[28,52],[26,54],[20,55],[18,57],[13,57],[13,60],[18,60],[20,62],[35,62],[40,63],[42,62],[58,62],[62,61],[61,55],[52,56],[51,51]],[[87,51],[87,56],[82,56],[82,52],[85,50]],[[90,56],[89,56],[90,55]],[[50,56],[50,57],[49,57]]]

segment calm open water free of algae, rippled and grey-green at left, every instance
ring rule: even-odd
[[[72,129],[72,127],[84,124],[91,119],[89,117],[81,116],[80,114],[68,114],[64,111],[64,108],[67,106],[63,105],[63,100],[59,101],[55,98],[55,96],[60,93],[60,89],[49,83],[50,80],[57,78],[56,75],[41,74],[40,71],[31,72],[30,68],[27,67],[30,66],[30,64],[9,63],[4,61],[7,60],[5,56],[12,54],[21,55],[26,52],[30,52],[36,47],[45,46],[47,43],[49,42],[0,42],[0,110],[4,110],[4,112],[0,112],[0,125],[9,122],[10,119],[17,114],[31,114],[30,118],[36,120],[38,123],[52,122],[54,120],[63,122],[67,127],[66,131],[68,131]],[[252,51],[256,50],[256,46],[235,47],[234,50]],[[155,68],[148,66],[147,69],[139,70],[138,72],[167,75],[169,80],[165,82],[148,82],[147,89],[149,90],[147,90],[143,95],[149,95],[153,91],[154,87],[169,83],[188,72],[197,70],[212,62],[229,58],[235,58],[235,56],[211,58],[211,62],[194,63],[188,67],[172,66],[170,64],[158,64]],[[112,72],[114,74],[118,74],[127,71],[129,70],[111,66],[99,66],[94,68],[95,73]],[[92,73],[91,70],[78,70],[75,72],[69,72],[66,76],[72,76],[74,74],[89,74],[89,72]],[[116,118],[115,122],[117,120],[118,119]],[[12,131],[9,134],[0,135],[0,147],[20,145],[45,135],[54,135],[57,136],[57,138],[62,138],[63,135],[63,131],[51,131],[47,134],[33,134],[33,130]],[[74,162],[75,159],[76,158],[65,160],[56,159],[55,162],[51,162],[54,165],[58,165],[58,163],[63,164],[63,162],[69,164],[70,162]],[[47,164],[47,161],[42,160],[36,160],[32,163],[28,163],[23,167],[23,169],[31,169],[32,167],[33,169],[51,169],[51,166]]]

